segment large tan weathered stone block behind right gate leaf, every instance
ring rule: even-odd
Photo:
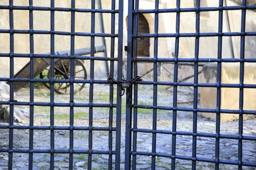
[[[239,84],[240,63],[222,63],[221,83]],[[202,83],[217,82],[217,63],[203,67]],[[244,84],[256,84],[256,63],[244,63]],[[200,108],[215,109],[217,88],[201,88]],[[256,110],[256,89],[244,88],[243,110]],[[221,109],[239,110],[239,88],[221,88]],[[199,113],[216,120],[216,113]],[[253,119],[256,115],[243,115],[243,119]],[[221,113],[221,122],[239,119],[239,114]]]

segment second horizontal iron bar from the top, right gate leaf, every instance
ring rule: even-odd
[[[162,37],[232,37],[256,36],[256,32],[204,32],[204,33],[159,33],[159,34],[133,34],[133,38],[162,38]]]

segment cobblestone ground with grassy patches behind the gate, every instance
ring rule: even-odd
[[[139,104],[152,105],[153,87],[141,85],[139,88]],[[18,101],[29,101],[29,89],[23,88],[16,93]],[[116,93],[114,94],[116,95]],[[89,88],[86,86],[80,94],[76,94],[75,102],[88,102]],[[179,90],[178,102],[189,101],[193,99],[192,91]],[[49,91],[47,89],[35,90],[35,102],[49,102]],[[116,101],[116,99],[114,99]],[[55,102],[69,102],[69,95],[55,95]],[[109,86],[95,85],[94,100],[95,103],[109,102]],[[123,103],[125,96],[123,97]],[[172,105],[172,91],[166,91],[166,87],[158,88],[158,105]],[[178,107],[192,108],[193,103],[180,103]],[[198,105],[198,107],[200,107]],[[88,126],[88,108],[75,108],[74,110],[74,125]],[[152,129],[153,114],[149,109],[138,109],[138,128]],[[116,111],[113,115],[113,126],[116,124]],[[93,109],[93,126],[108,127],[108,108]],[[49,126],[49,107],[35,106],[35,125]],[[69,108],[55,108],[55,126],[69,126]],[[256,119],[244,120],[243,135],[256,136]],[[6,124],[1,122],[0,124]],[[197,129],[198,132],[215,133],[216,122],[204,119],[198,116]],[[192,132],[192,113],[178,112],[177,113],[177,131]],[[157,129],[172,130],[172,112],[157,111]],[[238,135],[238,121],[221,123],[221,134]],[[107,131],[93,131],[93,149],[108,150],[108,135]],[[121,134],[121,169],[124,169],[124,147],[125,147],[125,107],[122,108],[122,134]],[[113,133],[113,150],[115,150],[115,133]],[[9,130],[0,130],[0,148],[8,148]],[[192,156],[192,136],[177,136],[176,154],[180,156]],[[14,130],[14,148],[29,148],[29,131]],[[49,149],[50,148],[50,132],[49,130],[34,130],[34,149]],[[55,149],[69,148],[69,131],[55,130]],[[157,134],[158,153],[171,153],[172,151],[172,135]],[[88,149],[88,132],[74,131],[74,149]],[[137,151],[151,152],[152,150],[152,134],[137,133]],[[215,158],[215,139],[198,137],[197,138],[197,157]],[[86,154],[74,154],[75,170],[87,169]],[[93,155],[93,169],[108,169],[108,155]],[[113,168],[115,156],[113,159]],[[237,160],[238,159],[238,140],[220,139],[220,159]],[[150,170],[151,156],[137,156],[136,169]],[[34,170],[49,170],[50,155],[44,153],[33,154]],[[256,162],[256,142],[243,141],[243,161]],[[14,170],[28,169],[28,154],[14,153],[13,154]],[[55,154],[55,169],[66,170],[69,166],[68,154]],[[177,170],[191,169],[192,162],[186,160],[176,160]],[[198,170],[212,170],[214,163],[197,162]],[[7,170],[8,154],[0,153],[0,170]],[[171,169],[171,159],[157,157],[157,170]],[[238,167],[235,165],[220,164],[220,169],[235,170]],[[254,167],[243,167],[246,170],[255,170]]]

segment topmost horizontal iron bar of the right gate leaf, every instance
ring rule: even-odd
[[[167,8],[167,9],[141,9],[133,10],[133,14],[149,14],[149,13],[170,13],[170,12],[203,12],[203,11],[223,11],[223,10],[253,10],[256,5],[252,6],[220,6],[220,7],[200,7],[200,8]]]

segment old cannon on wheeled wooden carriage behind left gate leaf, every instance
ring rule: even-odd
[[[104,52],[104,46],[95,47],[94,53]],[[48,53],[49,54],[49,53]],[[56,55],[69,55],[70,51],[58,51]],[[75,55],[90,54],[90,48],[82,48],[75,50]],[[74,59],[74,79],[87,79],[87,71],[84,63],[80,59]],[[55,59],[54,62],[54,79],[70,79],[70,59]],[[51,78],[50,58],[35,58],[34,59],[34,77],[40,75],[41,79]],[[15,74],[15,78],[30,77],[30,62],[28,62],[20,71]],[[15,82],[14,90],[18,91],[27,82]],[[43,82],[43,84],[50,89],[50,83]],[[74,91],[81,91],[84,88],[84,83],[74,83]],[[68,93],[70,90],[70,83],[54,83],[54,91],[58,94]]]

